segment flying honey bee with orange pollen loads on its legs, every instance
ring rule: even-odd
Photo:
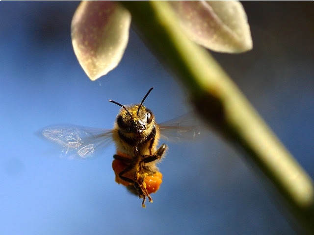
[[[112,162],[115,181],[142,198],[145,208],[146,197],[152,203],[150,194],[157,192],[162,183],[157,163],[165,156],[168,146],[163,143],[157,147],[159,139],[186,140],[200,134],[200,127],[191,124],[190,115],[158,125],[152,111],[143,105],[152,90],[153,87],[141,103],[135,105],[125,106],[109,100],[121,107],[112,130],[61,125],[45,128],[42,135],[61,145],[65,154],[78,159],[90,158],[113,141],[116,145]]]

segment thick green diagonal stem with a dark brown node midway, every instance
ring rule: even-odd
[[[186,38],[168,2],[122,3],[147,45],[183,83],[200,117],[246,151],[285,199],[299,227],[314,234],[310,177],[208,51]]]

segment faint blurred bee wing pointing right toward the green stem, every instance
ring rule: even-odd
[[[201,124],[193,113],[159,124],[160,138],[167,141],[190,141],[201,134]]]

